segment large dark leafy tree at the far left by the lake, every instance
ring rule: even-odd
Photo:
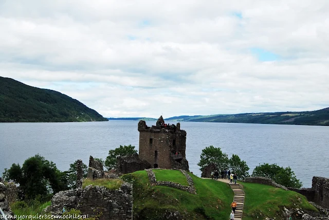
[[[39,154],[26,159],[22,168],[19,164],[13,163],[11,168],[4,172],[5,180],[20,184],[27,198],[46,196],[49,188],[53,193],[66,190],[65,176],[65,173],[57,169],[56,164]]]

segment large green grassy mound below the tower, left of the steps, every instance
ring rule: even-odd
[[[163,174],[162,177],[167,176],[167,181],[177,182],[175,170],[157,173],[161,173],[160,176]],[[163,219],[175,211],[179,212],[176,212],[177,216],[184,219],[228,218],[233,200],[230,187],[223,182],[201,179],[191,173],[189,175],[194,181],[197,195],[171,187],[151,187],[145,171],[122,176],[123,180],[132,182],[134,186],[134,219]]]

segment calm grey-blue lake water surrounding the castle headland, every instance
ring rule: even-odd
[[[175,123],[175,122],[170,122]],[[40,154],[61,171],[77,159],[89,163],[89,155],[105,159],[108,150],[132,144],[138,150],[138,121],[0,123],[0,176],[12,163],[23,164]],[[155,121],[147,124],[155,125]],[[290,167],[312,186],[313,176],[329,177],[329,127],[275,124],[180,122],[187,132],[186,157],[190,171],[200,176],[197,162],[202,149],[213,145],[229,156],[245,160],[250,173],[259,163]]]

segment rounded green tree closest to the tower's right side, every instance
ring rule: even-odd
[[[210,163],[215,163],[218,169],[228,168],[229,159],[227,154],[223,153],[221,148],[215,148],[213,145],[207,146],[200,155],[200,161],[197,163],[200,171],[204,171],[205,167]]]

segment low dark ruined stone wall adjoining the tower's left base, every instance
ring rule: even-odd
[[[133,173],[150,168],[151,164],[146,160],[139,159],[137,153],[131,156],[118,157],[117,159],[117,172],[121,174]]]

